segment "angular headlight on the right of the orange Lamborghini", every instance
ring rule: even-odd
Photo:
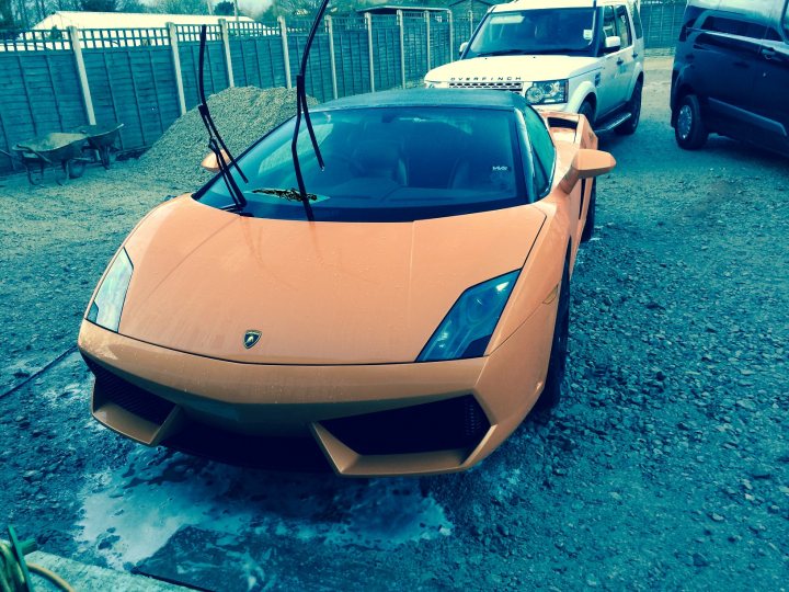
[[[481,356],[493,334],[521,270],[464,292],[427,341],[416,362]]]

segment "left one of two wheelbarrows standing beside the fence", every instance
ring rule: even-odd
[[[38,185],[44,179],[44,169],[48,164],[60,163],[64,179],[57,179],[59,184],[69,179],[82,177],[88,159],[82,156],[87,136],[84,134],[64,134],[53,132],[37,138],[20,141],[11,148],[12,155],[2,150],[8,157],[19,161],[27,172],[31,185]]]

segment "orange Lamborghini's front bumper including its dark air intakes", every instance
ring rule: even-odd
[[[342,475],[421,475],[471,467],[521,423],[542,389],[553,315],[542,306],[491,355],[450,362],[241,364],[89,321],[79,349],[96,376],[94,418],[137,442],[174,446],[206,428],[312,436]]]

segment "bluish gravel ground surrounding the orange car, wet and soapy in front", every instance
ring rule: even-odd
[[[619,167],[573,276],[570,391],[461,475],[242,470],[98,426],[79,318],[175,187],[133,164],[0,180],[0,525],[217,590],[786,590],[789,168],[677,149],[670,62],[651,66],[637,135],[604,139]]]

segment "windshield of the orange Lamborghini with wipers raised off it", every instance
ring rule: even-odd
[[[325,161],[318,167],[307,130],[298,151],[317,221],[410,221],[527,203],[514,112],[484,107],[370,107],[312,113]],[[239,187],[244,213],[305,219],[294,195],[261,190],[296,187],[290,155],[294,121],[265,136],[240,159],[249,177]],[[290,198],[288,198],[290,197]],[[195,194],[202,203],[232,204],[217,177]]]

